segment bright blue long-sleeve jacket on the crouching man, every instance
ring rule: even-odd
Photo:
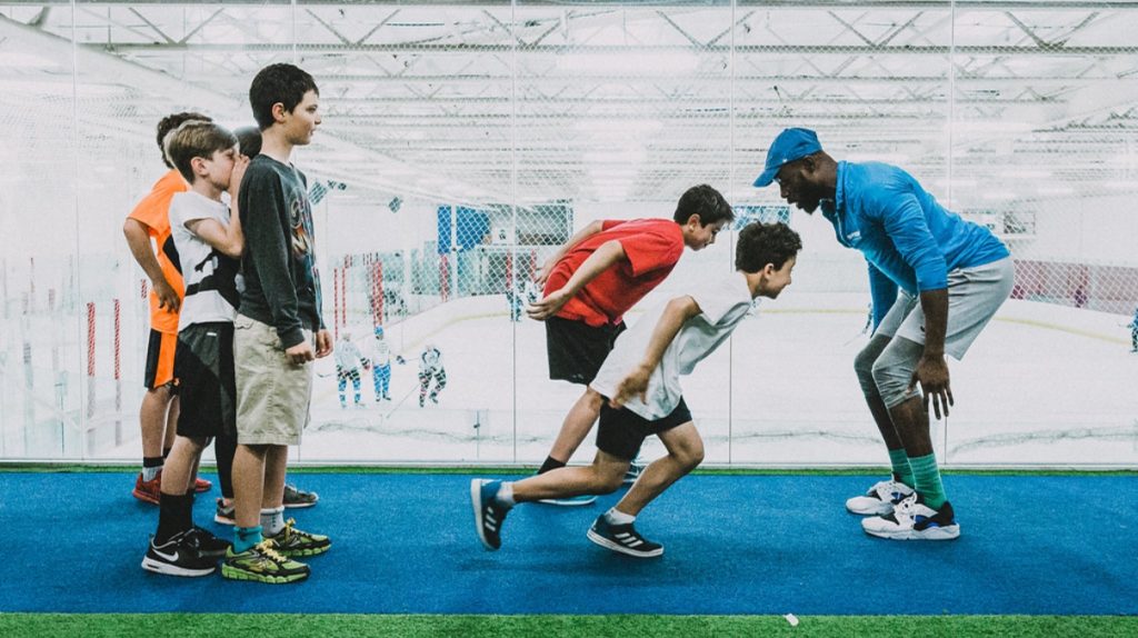
[[[888,164],[839,161],[836,193],[822,202],[822,214],[842,246],[865,255],[874,328],[898,287],[910,295],[947,288],[949,271],[1009,255],[991,231],[947,210],[913,175]]]

